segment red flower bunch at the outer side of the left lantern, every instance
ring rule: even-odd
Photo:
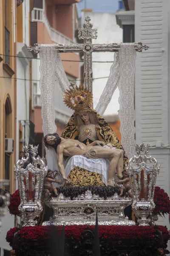
[[[9,201],[9,212],[12,215],[20,215],[20,211],[18,210],[18,207],[20,205],[20,192],[17,189],[14,194],[11,195],[10,201]]]

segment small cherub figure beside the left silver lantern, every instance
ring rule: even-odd
[[[58,195],[57,193],[57,188],[55,186],[53,186],[53,182],[55,183],[60,183],[59,181],[56,181],[55,180],[55,176],[57,176],[57,173],[53,176],[53,172],[51,171],[51,169],[48,169],[48,172],[47,172],[47,175],[44,179],[44,189],[43,189],[43,192],[44,192],[44,198],[48,198],[48,195],[51,193],[51,192],[54,192],[55,196]]]

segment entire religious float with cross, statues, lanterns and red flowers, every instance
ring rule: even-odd
[[[135,145],[134,61],[138,44],[92,44],[97,30],[85,19],[83,44],[35,45],[40,53],[42,130],[45,159],[37,146],[24,146],[25,158],[14,172],[18,188],[9,211],[21,218],[6,240],[16,256],[163,256],[169,253],[166,227],[158,215],[170,212],[170,198],[156,187],[160,166],[149,144]],[[69,83],[59,53],[84,52],[84,86]],[[105,90],[96,109],[92,100],[92,52],[116,52]],[[54,87],[74,110],[59,137],[54,114]],[[122,144],[102,115],[116,87],[120,90]],[[136,148],[136,155],[134,154]],[[24,169],[31,155],[32,163]],[[109,159],[109,160],[108,160]],[[129,160],[128,160],[129,159]],[[116,176],[115,176],[116,175]],[[116,180],[116,177],[119,180]],[[57,186],[54,186],[57,184]],[[120,186],[122,185],[122,186]],[[52,209],[50,218],[45,209]],[[133,214],[126,210],[133,209]],[[132,218],[133,215],[133,218]]]

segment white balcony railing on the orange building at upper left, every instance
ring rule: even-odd
[[[45,24],[51,40],[54,41],[56,44],[74,44],[74,41],[72,41],[70,38],[51,27],[43,9],[34,8],[31,15],[32,21],[40,21]]]

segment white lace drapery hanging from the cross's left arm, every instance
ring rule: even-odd
[[[46,45],[40,47],[40,73],[42,131],[45,136],[57,130],[55,125],[54,87],[58,83],[64,93],[69,86],[60,55],[53,45],[51,47]],[[48,169],[57,170],[56,151],[49,147],[46,153]]]

